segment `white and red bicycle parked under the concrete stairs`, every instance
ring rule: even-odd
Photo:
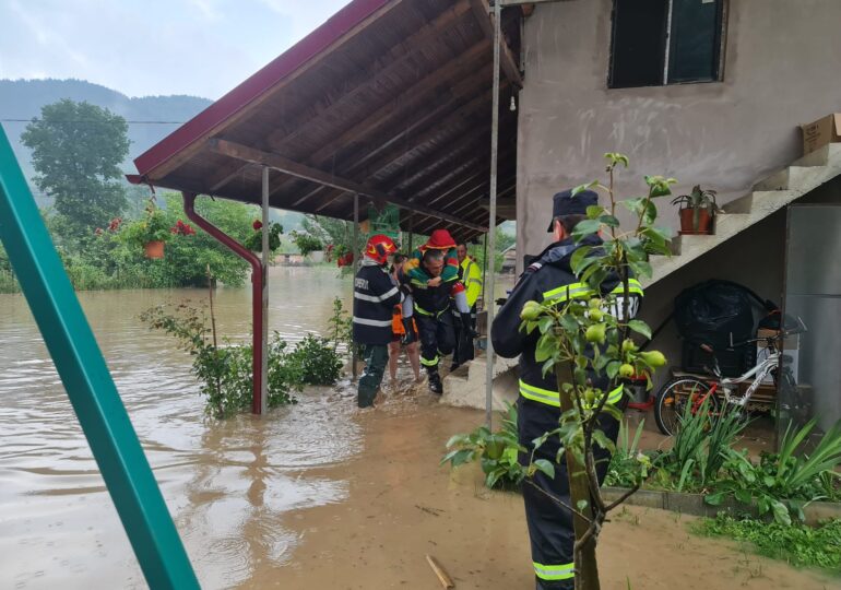
[[[735,406],[739,412],[745,411],[754,392],[769,374],[773,377],[774,385],[778,386],[778,390],[782,394],[781,400],[786,402],[785,404],[781,403],[780,409],[790,413],[805,411],[806,409],[799,401],[797,384],[787,363],[783,363],[782,373],[779,370],[781,358],[783,361],[791,359],[782,353],[784,339],[806,332],[803,320],[797,318],[797,322],[799,326],[793,330],[781,330],[768,338],[755,338],[739,343],[733,342],[733,334],[731,333],[729,350],[765,341],[770,353],[761,363],[738,377],[724,377],[713,347],[709,344],[701,344],[701,350],[712,356],[712,370],[704,367],[712,374],[711,378],[702,380],[697,377],[677,377],[660,389],[654,399],[654,418],[660,432],[668,436],[677,432],[680,426],[680,416],[684,415],[687,403],[691,403],[692,414],[696,414],[707,400],[709,400],[710,415],[721,414],[722,403],[725,406]],[[780,377],[782,377],[782,381],[780,381]],[[739,396],[737,393],[739,384],[750,379],[753,381],[747,390]],[[794,403],[787,403],[789,400],[794,400]]]

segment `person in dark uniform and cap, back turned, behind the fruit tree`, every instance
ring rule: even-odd
[[[581,283],[570,268],[572,253],[582,246],[597,248],[602,239],[596,235],[585,237],[575,243],[570,237],[572,228],[587,219],[587,208],[597,204],[595,192],[583,191],[572,197],[567,190],[555,194],[553,199],[553,220],[549,232],[555,241],[547,247],[518,280],[510,297],[500,308],[494,320],[490,337],[494,350],[500,356],[513,358],[520,356],[520,397],[518,400],[518,429],[520,445],[526,452],[520,455],[521,464],[529,464],[534,449],[533,440],[544,433],[558,427],[560,420],[560,399],[554,371],[543,376],[542,365],[534,358],[535,346],[540,334],[537,331],[525,334],[520,331],[520,311],[529,300],[557,302],[558,305],[587,305],[593,296],[615,294],[624,297],[624,286],[618,275],[613,274],[601,285],[601,293],[594,293],[587,284]],[[635,315],[642,297],[642,288],[638,281],[629,281],[630,302],[628,309]],[[623,294],[623,295],[619,295]],[[617,300],[619,310],[624,302]],[[621,311],[612,309],[611,312],[620,317]],[[607,388],[606,378],[592,377],[593,385],[602,390]],[[621,386],[607,393],[607,402],[625,409],[627,401],[623,396]],[[619,423],[606,413],[600,416],[601,429],[612,440],[616,441]],[[567,479],[566,461],[561,457],[556,463],[560,440],[557,436],[549,438],[534,453],[534,459],[547,459],[555,464],[555,477],[549,479],[542,472],[533,477],[533,483],[541,489],[570,504],[569,482]],[[597,461],[599,482],[604,481],[609,455],[596,447],[593,449]],[[523,486],[525,503],[525,519],[529,526],[529,536],[532,545],[532,563],[538,590],[571,590],[575,588],[572,514],[546,494],[534,486]]]

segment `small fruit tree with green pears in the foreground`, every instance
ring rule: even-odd
[[[614,173],[619,166],[627,167],[628,158],[617,153],[605,154],[605,157],[607,185],[594,180],[573,190],[573,194],[584,189],[599,190],[609,200],[607,208],[589,206],[588,219],[572,233],[577,241],[593,234],[604,237],[602,246],[582,246],[571,260],[579,280],[587,283],[592,293],[601,295],[590,300],[568,297],[561,305],[552,300],[529,302],[521,314],[521,329],[530,333],[540,331],[535,358],[544,363],[544,374],[555,371],[560,392],[558,427],[545,433],[536,446],[549,437],[560,438],[571,499],[571,506],[566,508],[573,512],[576,533],[576,588],[587,590],[600,588],[595,546],[606,515],[639,488],[647,468],[648,459],[640,457],[637,484],[616,502],[606,504],[600,492],[593,448],[597,445],[608,452],[615,451],[614,442],[599,425],[599,415],[603,412],[621,420],[621,412],[607,403],[608,393],[624,387],[623,379],[632,375],[644,375],[651,387],[651,375],[665,365],[662,353],[641,352],[631,339],[632,333],[650,339],[651,329],[640,320],[630,319],[630,281],[635,275],[651,276],[649,255],[670,253],[671,231],[654,225],[658,215],[654,201],[670,194],[670,187],[676,182],[674,178],[647,176],[648,194],[619,201],[614,191]],[[616,216],[619,205],[635,217],[630,231],[620,228]],[[616,276],[620,281],[619,293],[603,294],[602,284]],[[599,387],[597,384],[605,381],[607,386]],[[534,453],[526,470],[526,484],[532,482],[531,476],[536,471],[555,476],[552,462],[533,457]],[[558,456],[556,462],[560,461]],[[559,498],[553,499],[562,505]]]

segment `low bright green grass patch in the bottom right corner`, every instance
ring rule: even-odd
[[[691,526],[704,536],[726,536],[750,544],[756,553],[795,567],[818,567],[841,575],[841,520],[812,528],[760,520],[739,520],[725,515],[704,518]]]

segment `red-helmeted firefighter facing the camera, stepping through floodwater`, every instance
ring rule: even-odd
[[[424,251],[419,266],[410,264],[412,272],[401,273],[401,282],[410,291],[403,302],[404,343],[414,339],[411,324],[414,317],[420,340],[420,364],[426,368],[429,390],[439,396],[443,392],[443,386],[438,374],[438,364],[440,357],[450,354],[455,345],[451,299],[455,302],[461,314],[470,317],[464,285],[458,280],[458,275],[454,280],[443,281],[445,266],[443,249],[428,248]]]

